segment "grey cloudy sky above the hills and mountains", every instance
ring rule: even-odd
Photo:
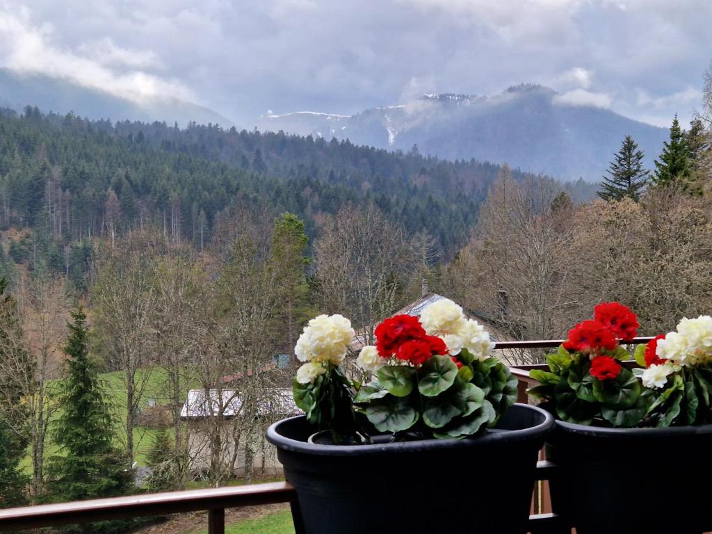
[[[699,106],[711,27],[711,0],[0,0],[0,67],[238,123],[531,82],[669,125]]]

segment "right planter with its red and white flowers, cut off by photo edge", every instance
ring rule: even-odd
[[[554,511],[578,534],[712,528],[712,318],[683,319],[622,364],[637,318],[602,303],[569,331],[530,390],[557,415],[547,457]],[[656,511],[655,507],[659,507]]]

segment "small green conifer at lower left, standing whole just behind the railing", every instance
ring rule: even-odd
[[[50,459],[48,501],[81,501],[120,496],[130,490],[125,459],[112,444],[114,427],[103,384],[88,349],[82,308],[74,310],[64,352],[69,376],[62,384],[64,411],[53,432],[59,453]],[[104,525],[107,530],[107,525]],[[76,525],[71,532],[99,532],[98,525]]]

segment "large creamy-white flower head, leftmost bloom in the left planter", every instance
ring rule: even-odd
[[[319,315],[309,321],[294,352],[302,362],[318,360],[340,364],[356,332],[342,315]]]

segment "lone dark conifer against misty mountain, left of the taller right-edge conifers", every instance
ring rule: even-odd
[[[649,170],[643,168],[643,151],[632,137],[626,135],[614,161],[608,167],[610,177],[603,177],[601,190],[597,193],[604,200],[620,200],[630,197],[637,201],[648,179]]]

